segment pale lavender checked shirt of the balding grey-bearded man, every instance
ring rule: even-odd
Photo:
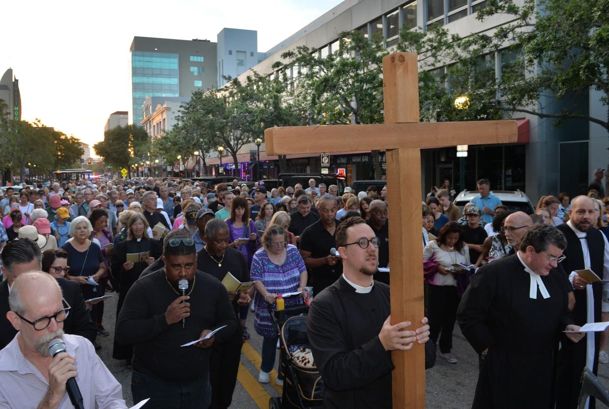
[[[0,351],[0,408],[36,408],[49,388],[44,376],[21,353],[19,334]],[[76,357],[76,382],[84,407],[127,408],[121,384],[97,356],[93,344],[78,335],[63,335],[63,341],[66,352]],[[74,408],[67,393],[58,408]]]

